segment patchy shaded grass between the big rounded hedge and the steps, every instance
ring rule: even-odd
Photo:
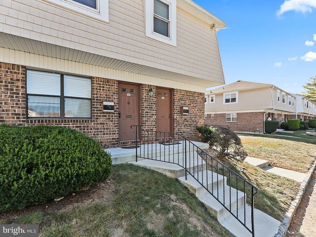
[[[233,237],[177,179],[132,165],[111,173],[59,202],[4,213],[0,223],[40,224],[42,237]]]

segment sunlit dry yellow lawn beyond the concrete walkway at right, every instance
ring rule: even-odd
[[[316,158],[316,140],[307,143],[295,137],[271,136],[239,135],[248,156],[268,160],[271,166],[307,173]]]

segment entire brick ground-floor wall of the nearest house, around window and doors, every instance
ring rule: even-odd
[[[91,78],[91,119],[27,119],[26,118],[26,68],[21,65],[0,63],[0,124],[10,125],[60,125],[81,131],[100,141],[102,147],[132,144],[119,142],[118,81],[100,77]],[[149,89],[154,91],[149,96]],[[141,125],[156,130],[156,88],[140,85]],[[113,101],[114,112],[103,112],[102,102]],[[180,114],[187,106],[190,113]],[[173,131],[197,139],[197,125],[204,124],[204,93],[173,89]]]

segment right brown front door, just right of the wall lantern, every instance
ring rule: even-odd
[[[170,89],[157,88],[156,98],[157,131],[172,132],[172,92]]]

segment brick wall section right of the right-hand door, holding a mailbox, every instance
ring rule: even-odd
[[[197,140],[197,126],[204,125],[204,93],[173,89],[173,132]],[[181,114],[180,107],[189,107]]]

